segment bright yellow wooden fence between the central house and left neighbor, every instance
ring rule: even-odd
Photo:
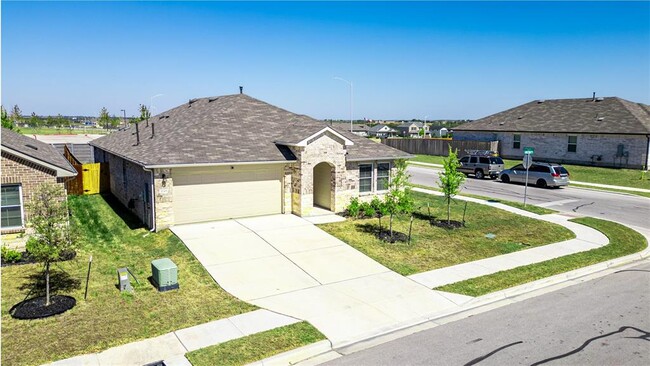
[[[81,164],[67,146],[63,147],[63,156],[77,171],[77,176],[65,183],[68,194],[97,194],[108,190],[108,163]]]

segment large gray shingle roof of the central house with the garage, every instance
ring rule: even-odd
[[[148,127],[141,122],[139,144],[134,125],[90,144],[143,166],[287,161],[295,157],[276,141],[302,140],[326,126],[311,117],[235,94],[194,99],[150,118]],[[348,159],[410,156],[333,128],[354,142],[348,146]]]

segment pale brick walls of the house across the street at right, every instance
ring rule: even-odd
[[[514,148],[515,135],[521,136],[519,148]],[[569,136],[577,137],[575,152],[568,151]],[[523,148],[530,146],[535,148],[533,160],[637,169],[647,169],[650,163],[644,135],[455,131],[454,140],[498,140],[500,154],[507,159],[522,158]],[[627,157],[617,156],[619,145]]]

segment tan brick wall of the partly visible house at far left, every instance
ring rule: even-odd
[[[2,163],[0,168],[2,170],[2,185],[17,184],[21,186],[23,199],[23,226],[25,226],[25,223],[29,221],[26,207],[30,202],[32,193],[40,184],[46,182],[60,184],[64,189],[64,195],[62,198],[65,198],[64,180],[62,178],[57,178],[56,171],[53,169],[45,168],[5,151],[2,152]],[[2,234],[19,233],[24,231],[24,227],[21,229],[3,229]]]

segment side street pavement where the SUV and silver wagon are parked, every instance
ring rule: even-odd
[[[437,187],[435,169],[410,165],[408,172],[414,184]],[[475,194],[515,202],[523,202],[524,186],[497,180],[465,180],[462,193]],[[650,199],[631,194],[564,187],[559,189],[528,187],[527,203],[553,210],[617,221],[633,227],[650,227]]]

